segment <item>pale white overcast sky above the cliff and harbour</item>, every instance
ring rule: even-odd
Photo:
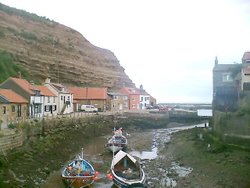
[[[0,0],[115,53],[157,102],[212,102],[212,69],[250,50],[248,0]]]

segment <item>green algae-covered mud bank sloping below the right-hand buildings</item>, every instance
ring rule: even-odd
[[[194,187],[250,187],[250,152],[212,142],[208,149],[207,140],[197,137],[201,133],[207,134],[203,130],[179,132],[167,149],[183,165],[194,169],[187,178],[189,183]]]

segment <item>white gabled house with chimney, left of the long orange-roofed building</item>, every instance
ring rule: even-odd
[[[57,100],[55,99],[57,114],[70,114],[74,111],[73,94],[66,86],[59,83],[52,83],[49,78],[45,80],[44,86],[48,87],[57,96]]]

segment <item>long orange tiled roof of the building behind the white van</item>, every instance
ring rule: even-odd
[[[69,87],[73,98],[77,100],[84,99],[107,99],[107,88],[93,88],[93,87]]]

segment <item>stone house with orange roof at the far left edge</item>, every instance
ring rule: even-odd
[[[25,121],[28,101],[10,89],[0,89],[0,128]]]

